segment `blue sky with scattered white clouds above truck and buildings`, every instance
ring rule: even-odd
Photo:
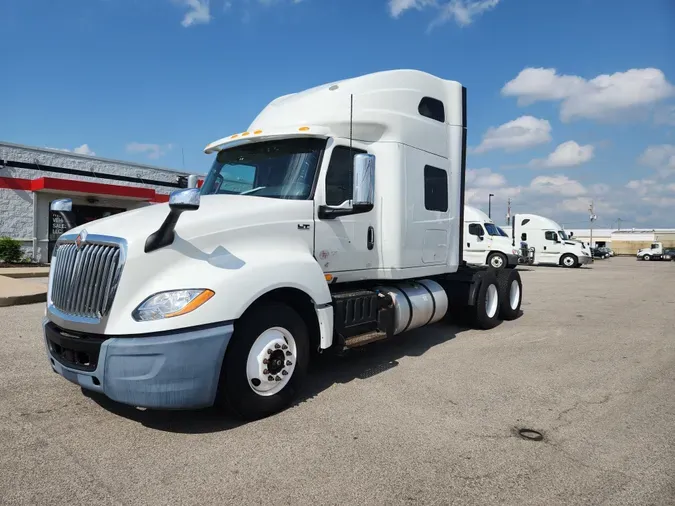
[[[0,139],[203,172],[276,96],[416,68],[469,92],[495,218],[675,227],[672,0],[1,0]]]

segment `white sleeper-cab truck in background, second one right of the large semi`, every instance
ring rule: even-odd
[[[528,251],[530,265],[580,267],[593,262],[591,250],[571,240],[555,221],[536,214],[516,214],[512,220],[513,246]]]

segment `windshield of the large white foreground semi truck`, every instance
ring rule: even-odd
[[[295,138],[224,149],[216,156],[201,194],[308,199],[325,147],[324,139]]]

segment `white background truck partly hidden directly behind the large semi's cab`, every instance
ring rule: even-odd
[[[518,265],[519,250],[480,209],[464,206],[464,260],[494,269]]]

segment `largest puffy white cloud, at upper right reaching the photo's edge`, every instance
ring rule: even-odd
[[[502,88],[521,106],[562,101],[560,118],[608,120],[625,117],[675,95],[675,86],[656,68],[602,74],[591,80],[560,75],[554,68],[525,68]]]

